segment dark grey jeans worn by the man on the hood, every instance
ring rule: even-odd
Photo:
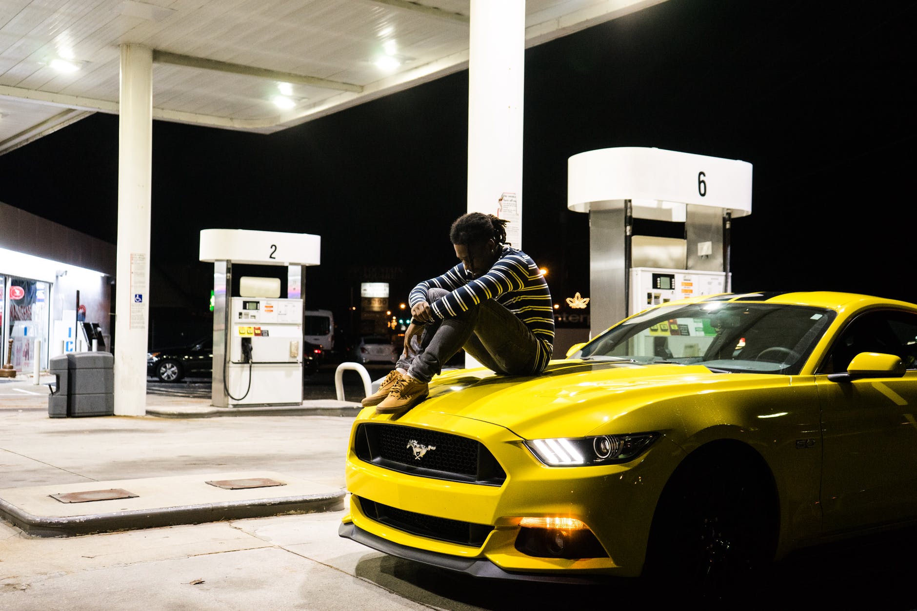
[[[448,294],[440,288],[426,292],[433,303]],[[538,340],[512,312],[492,299],[474,305],[458,317],[426,325],[414,339],[414,354],[402,352],[397,367],[422,382],[442,372],[443,363],[465,349],[484,367],[506,375],[535,375]]]

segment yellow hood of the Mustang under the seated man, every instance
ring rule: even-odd
[[[444,372],[414,409],[401,417],[373,418],[425,426],[434,413],[467,417],[508,428],[523,439],[603,434],[609,428],[640,432],[673,422],[670,410],[657,408],[669,399],[789,383],[786,375],[716,373],[702,365],[551,361],[536,377],[487,369]]]

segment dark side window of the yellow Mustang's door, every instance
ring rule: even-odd
[[[845,372],[860,352],[894,354],[908,369],[917,369],[917,315],[878,310],[854,318],[832,344],[818,373]]]

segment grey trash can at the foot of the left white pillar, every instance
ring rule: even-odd
[[[57,389],[48,397],[49,417],[115,414],[115,355],[111,352],[71,352],[54,357],[49,372],[57,380]]]

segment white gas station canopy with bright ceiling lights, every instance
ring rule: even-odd
[[[664,0],[528,0],[531,47]],[[470,0],[4,0],[0,154],[118,113],[153,50],[153,118],[269,134],[468,67]]]

